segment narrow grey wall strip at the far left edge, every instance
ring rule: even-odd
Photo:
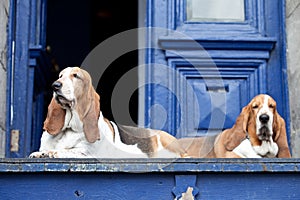
[[[0,158],[5,156],[6,51],[9,0],[0,0]]]

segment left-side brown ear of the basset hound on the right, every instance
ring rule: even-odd
[[[224,145],[226,150],[232,151],[246,138],[249,116],[250,107],[248,105],[242,109],[235,125],[231,129],[224,131]]]

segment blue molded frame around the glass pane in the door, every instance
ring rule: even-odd
[[[264,2],[245,0],[245,21],[242,22],[189,22],[186,18],[185,0],[168,0],[175,9],[168,10],[168,28],[184,32],[191,37],[231,36],[264,36]],[[199,31],[200,30],[200,31]]]

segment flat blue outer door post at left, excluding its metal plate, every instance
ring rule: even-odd
[[[30,152],[32,72],[29,65],[30,1],[11,0],[8,40],[8,123],[6,127],[6,157],[24,157]],[[19,151],[10,151],[11,131],[20,132]]]

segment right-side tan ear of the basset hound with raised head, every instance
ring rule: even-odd
[[[98,128],[98,119],[100,115],[100,97],[94,91],[92,86],[88,92],[89,96],[89,108],[86,115],[83,116],[83,132],[88,142],[94,143],[96,140],[100,139],[100,132]],[[87,104],[87,105],[88,105]],[[84,105],[84,106],[87,106]]]

